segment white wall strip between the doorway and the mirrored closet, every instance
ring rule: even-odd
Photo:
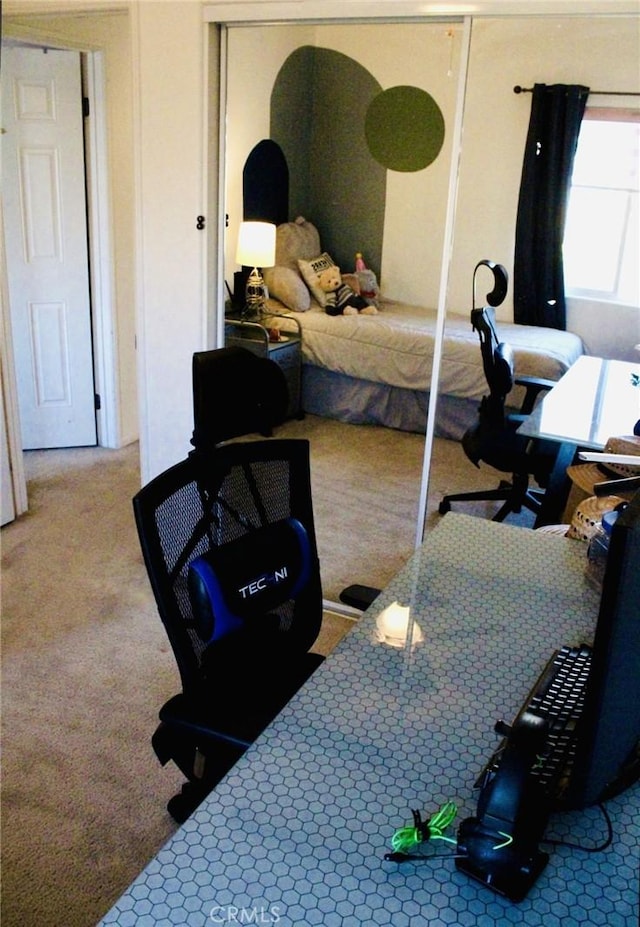
[[[205,28],[199,3],[132,6],[143,480],[182,459],[206,347]],[[209,223],[215,217],[208,217]]]

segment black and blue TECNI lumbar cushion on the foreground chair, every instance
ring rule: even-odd
[[[311,576],[311,545],[300,521],[286,518],[208,551],[189,565],[187,585],[205,642],[242,630],[295,598]]]

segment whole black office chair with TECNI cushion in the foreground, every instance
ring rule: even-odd
[[[273,368],[243,348],[195,355],[194,450],[133,500],[181,680],[152,738],[187,780],[167,805],[178,822],[323,660],[309,653],[322,622],[309,444],[229,440],[284,416]]]

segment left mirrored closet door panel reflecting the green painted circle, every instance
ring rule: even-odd
[[[304,369],[305,407],[312,411],[278,434],[311,442],[318,542],[330,600],[349,583],[386,583],[415,546],[432,357],[425,351],[397,369],[398,348],[385,343],[393,338],[385,332],[390,311],[385,301],[405,311],[418,339],[420,326],[434,324],[462,32],[460,21],[226,31],[229,291],[240,271],[240,223],[263,218],[250,212],[251,205],[247,215],[246,200],[247,177],[256,183],[247,159],[264,139],[275,142],[286,160],[290,235],[302,232],[298,217],[317,232],[318,254],[305,239],[304,257],[328,254],[347,275],[356,271],[361,253],[375,274],[375,281],[370,274],[362,279],[379,288],[377,315],[330,317],[313,308],[296,311],[309,300],[300,277],[296,283],[265,272],[272,283],[269,305],[293,310],[294,329],[299,322],[313,360]],[[258,172],[258,186],[263,176],[269,200],[273,182],[268,172]],[[295,248],[283,257],[279,245],[279,255],[292,273]],[[360,282],[357,278],[356,285]],[[276,297],[284,303],[274,303]],[[424,322],[423,314],[429,315]],[[290,335],[285,331],[283,337]],[[422,386],[422,397],[407,388],[412,382]]]

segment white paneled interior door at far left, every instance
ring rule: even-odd
[[[2,186],[23,448],[96,444],[80,55],[2,49]]]

